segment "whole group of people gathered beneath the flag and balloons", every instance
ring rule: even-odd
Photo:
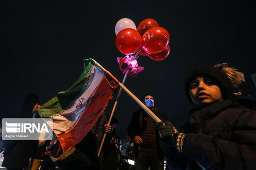
[[[134,142],[135,170],[163,170],[164,158],[168,170],[254,170],[256,98],[239,89],[243,80],[243,75],[226,63],[190,71],[185,89],[194,109],[180,129],[154,105],[153,95],[146,94],[145,105],[161,121],[155,122],[143,109],[132,114],[128,135]],[[32,108],[36,112],[40,107],[38,97],[29,96],[24,103],[20,117],[31,118],[25,112],[31,113]],[[53,164],[63,170],[118,170],[120,152],[115,134],[118,121],[114,118],[108,125],[107,120],[103,113],[83,140],[68,152],[63,152],[57,142],[50,154]],[[97,156],[104,133],[107,138]],[[25,169],[32,158],[32,170],[38,170],[48,144],[10,141],[2,166]]]

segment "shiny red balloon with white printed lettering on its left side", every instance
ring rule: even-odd
[[[151,54],[159,53],[169,43],[170,35],[166,29],[157,26],[150,28],[142,37],[141,48]]]

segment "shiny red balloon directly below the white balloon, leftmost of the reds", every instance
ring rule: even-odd
[[[140,48],[141,36],[132,28],[121,30],[116,36],[116,47],[123,54],[133,54]]]

